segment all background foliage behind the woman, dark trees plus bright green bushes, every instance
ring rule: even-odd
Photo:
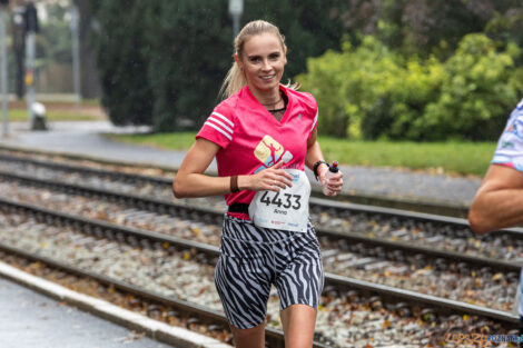
[[[111,120],[197,129],[233,62],[228,1],[90,1]],[[280,28],[324,135],[495,139],[523,97],[520,2],[245,0],[241,22]]]

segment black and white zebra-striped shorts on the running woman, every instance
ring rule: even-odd
[[[240,329],[265,320],[272,285],[282,310],[297,304],[317,309],[324,270],[313,225],[290,232],[226,215],[215,282],[228,321]]]

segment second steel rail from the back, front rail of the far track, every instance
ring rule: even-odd
[[[19,182],[32,185],[36,187],[46,187],[49,189],[60,190],[68,193],[79,193],[87,197],[96,196],[108,199],[109,201],[117,201],[117,202],[127,202],[131,203],[140,209],[148,209],[151,211],[159,211],[161,213],[170,213],[172,216],[179,216],[181,218],[189,218],[196,219],[205,222],[215,222],[221,223],[224,211],[219,211],[216,209],[210,208],[203,208],[203,207],[188,207],[185,205],[167,202],[164,200],[157,200],[151,198],[145,198],[135,195],[128,193],[120,193],[109,190],[100,190],[91,187],[72,185],[72,183],[63,183],[53,180],[46,180],[46,179],[37,179],[28,176],[22,175],[13,175],[10,172],[0,171],[0,178],[4,178],[7,180],[16,180]],[[388,209],[388,213],[393,215],[394,210]],[[428,217],[427,217],[428,218]],[[497,260],[493,258],[486,257],[476,257],[476,256],[467,256],[460,252],[454,251],[445,251],[438,250],[431,247],[422,247],[416,246],[407,242],[399,242],[399,241],[391,241],[384,238],[371,238],[366,237],[361,233],[355,232],[338,232],[333,230],[327,230],[325,228],[318,227],[316,228],[316,233],[318,237],[326,237],[334,240],[346,240],[353,245],[362,243],[365,248],[382,248],[387,252],[393,252],[396,250],[401,250],[405,255],[425,255],[431,259],[438,259],[443,258],[448,262],[466,262],[474,268],[491,268],[495,271],[502,272],[519,272],[522,265],[517,265],[515,262],[509,262],[504,260]],[[522,237],[522,235],[517,235]]]

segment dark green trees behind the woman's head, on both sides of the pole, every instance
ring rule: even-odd
[[[303,71],[308,57],[339,42],[342,27],[329,20],[322,3],[246,0],[244,23],[264,18],[287,36],[293,61],[287,78]],[[102,103],[111,120],[152,125],[159,131],[198,127],[219,101],[220,83],[233,63],[227,1],[116,0],[99,1],[96,9],[102,28]]]

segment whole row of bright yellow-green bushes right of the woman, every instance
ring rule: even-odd
[[[320,108],[319,132],[364,139],[493,140],[523,92],[515,46],[466,36],[445,62],[403,59],[372,37],[309,59],[298,79]]]

